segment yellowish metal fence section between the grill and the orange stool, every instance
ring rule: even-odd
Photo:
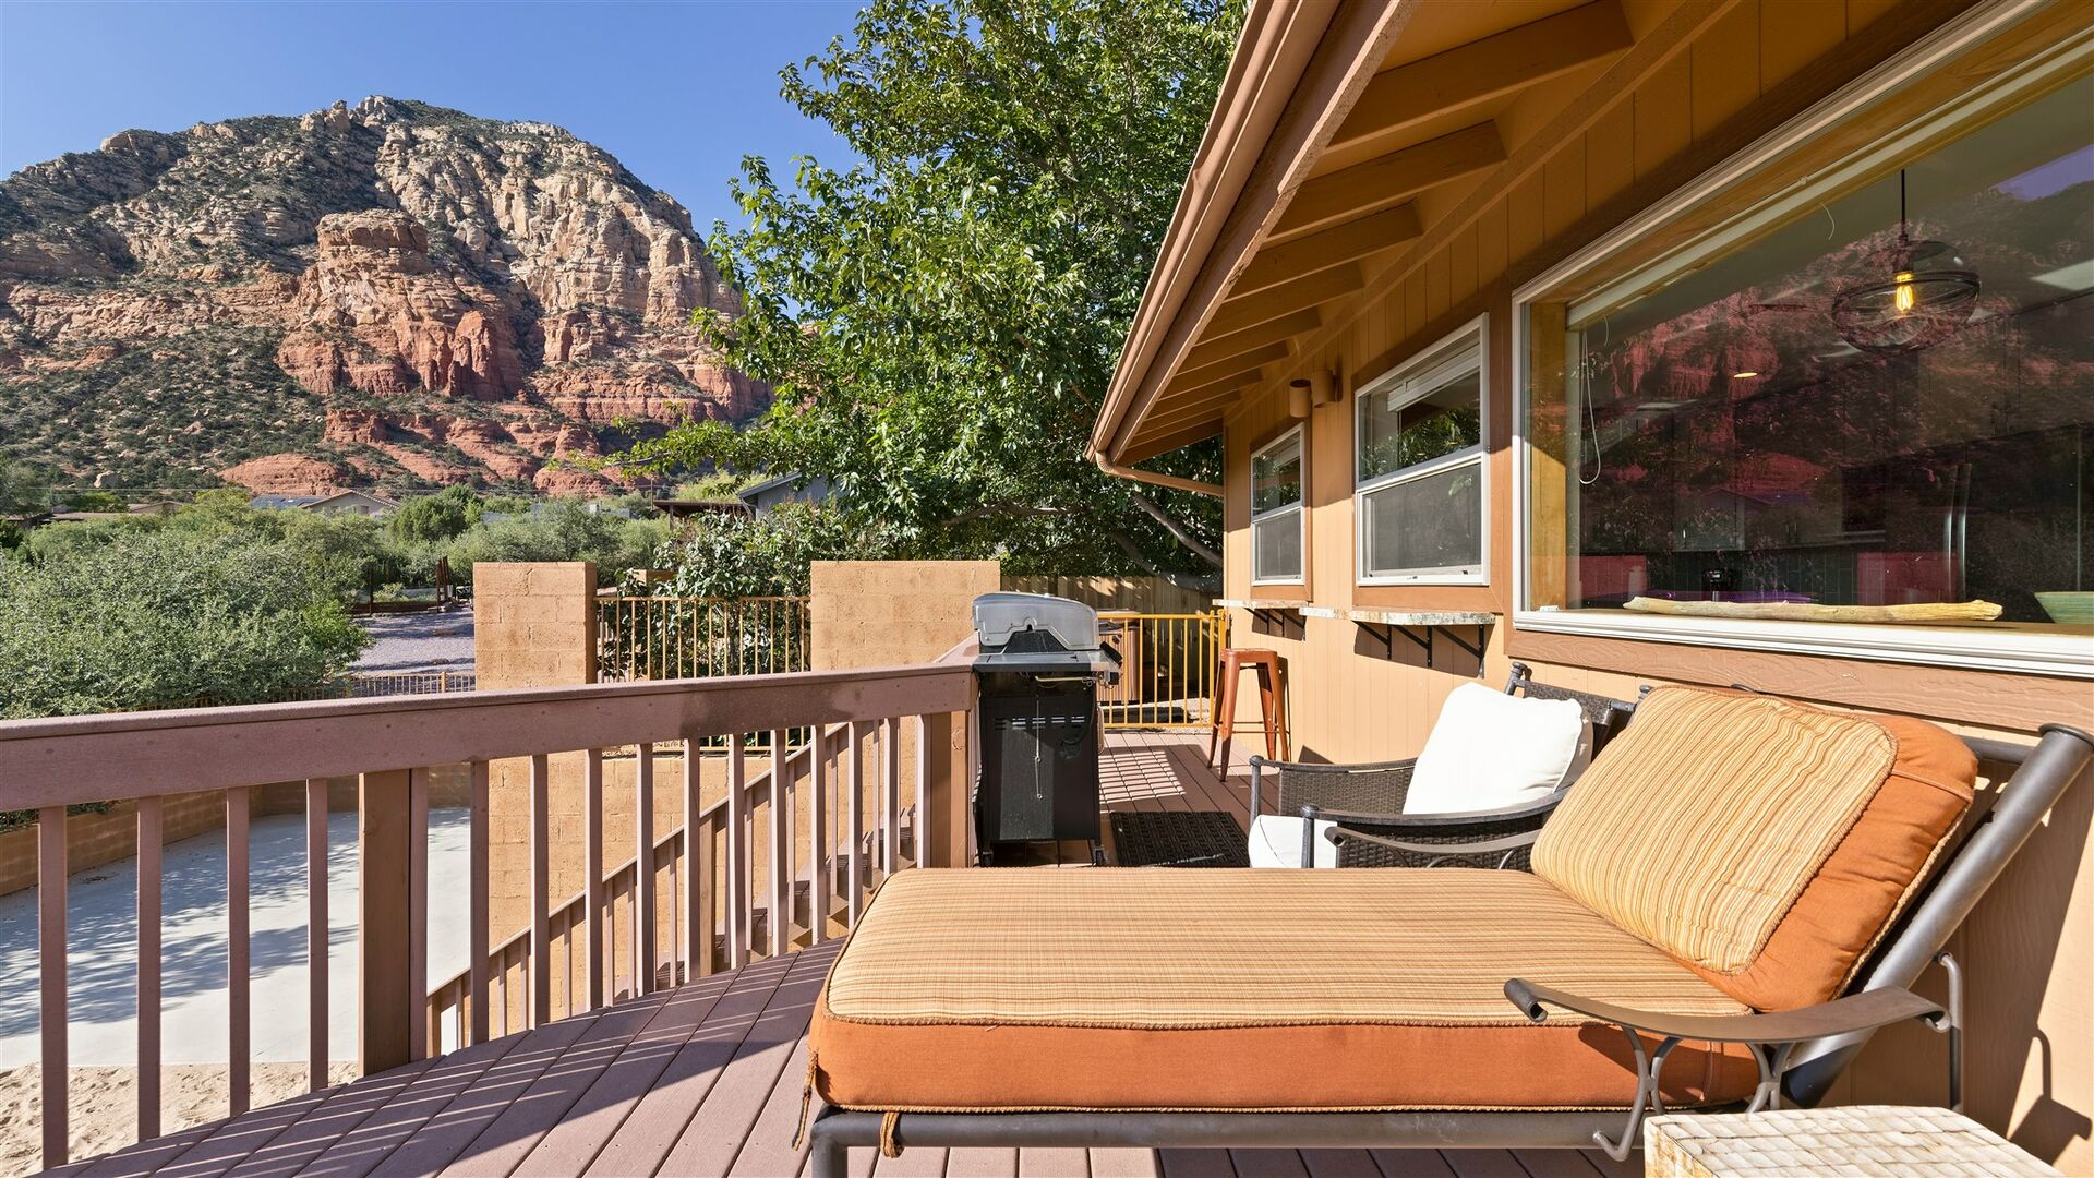
[[[1204,729],[1215,673],[1229,646],[1227,610],[1202,614],[1101,612],[1104,643],[1120,652],[1120,681],[1099,688],[1106,727]]]

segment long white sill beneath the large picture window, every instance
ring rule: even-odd
[[[2094,679],[2094,635],[2077,627],[2019,627],[2014,623],[1883,627],[1627,616],[1621,610],[1518,610],[1512,623],[1516,629],[1539,633]]]

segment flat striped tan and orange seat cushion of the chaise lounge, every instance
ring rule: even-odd
[[[850,1109],[1625,1107],[1621,1031],[1533,1025],[1508,977],[1744,1010],[1524,872],[911,870],[838,956],[810,1044]],[[1679,1048],[1667,1098],[1753,1075]]]

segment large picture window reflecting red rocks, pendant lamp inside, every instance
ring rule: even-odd
[[[2033,90],[1522,291],[1522,627],[2094,675],[2094,78]]]

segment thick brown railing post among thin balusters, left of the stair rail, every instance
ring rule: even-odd
[[[408,970],[408,771],[364,773],[356,807],[356,1063],[364,1075],[415,1056],[421,979]]]

